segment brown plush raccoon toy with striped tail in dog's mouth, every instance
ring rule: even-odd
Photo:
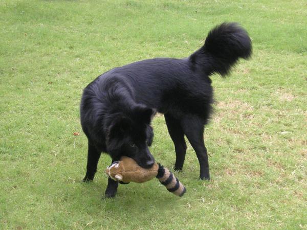
[[[169,192],[177,196],[183,196],[186,188],[167,168],[155,163],[150,169],[140,167],[134,159],[123,156],[121,160],[113,162],[107,167],[105,173],[114,180],[124,183],[137,182],[143,183],[151,180],[153,177],[159,179]]]

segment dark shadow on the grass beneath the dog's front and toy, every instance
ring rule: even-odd
[[[157,212],[159,215],[173,212],[178,209],[178,201],[181,203],[185,199],[168,192],[164,186],[160,186],[158,180],[119,185],[115,198],[105,198],[106,182],[106,179],[102,179],[89,183],[70,183],[66,194],[63,194],[64,206],[100,217],[136,217],[142,220],[157,215]]]

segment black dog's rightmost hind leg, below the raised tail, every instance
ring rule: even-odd
[[[209,180],[208,153],[204,142],[204,123],[197,117],[185,118],[181,121],[184,134],[187,136],[191,146],[200,163],[200,179]]]

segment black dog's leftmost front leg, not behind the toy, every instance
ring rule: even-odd
[[[87,150],[86,174],[82,181],[87,182],[94,179],[100,155],[101,152],[89,143],[89,149]]]

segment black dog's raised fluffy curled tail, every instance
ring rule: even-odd
[[[224,22],[209,32],[203,47],[189,58],[206,74],[224,77],[239,58],[248,59],[251,54],[252,42],[246,30],[235,22]]]

